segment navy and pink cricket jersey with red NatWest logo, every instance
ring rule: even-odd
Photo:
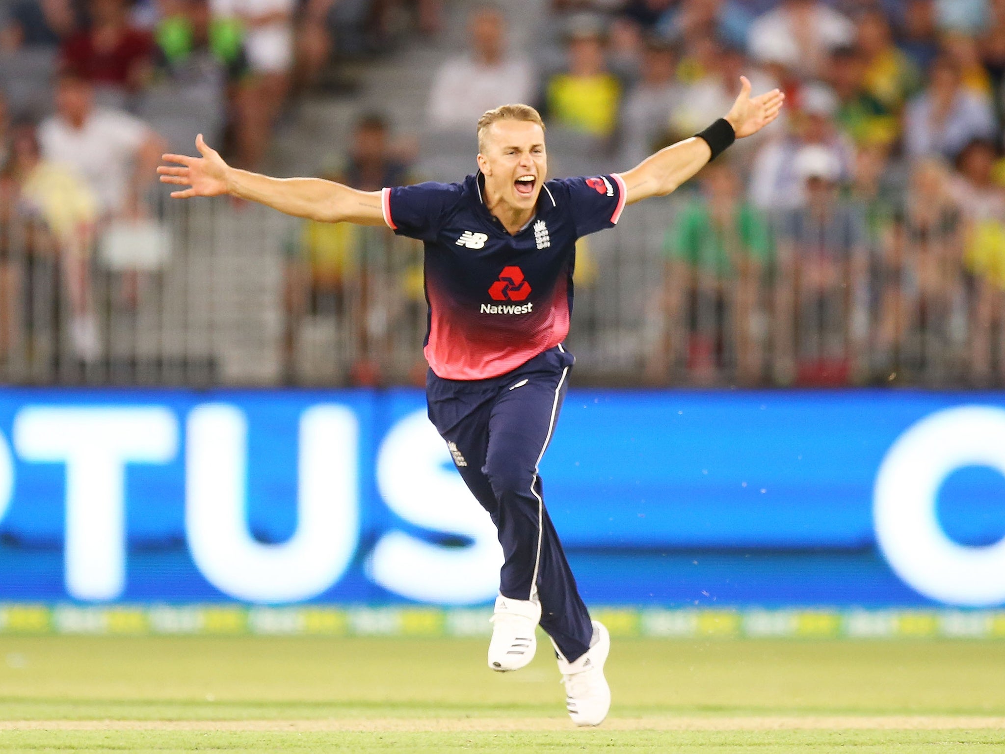
[[[515,235],[482,200],[483,178],[386,188],[384,220],[425,246],[426,361],[444,379],[513,371],[569,334],[576,240],[613,227],[625,205],[619,175],[544,184]]]

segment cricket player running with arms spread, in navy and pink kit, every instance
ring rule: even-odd
[[[317,178],[276,179],[229,167],[200,135],[201,157],[165,155],[171,196],[230,194],[297,217],[386,225],[425,244],[424,353],[429,418],[498,529],[505,563],[488,667],[534,657],[551,637],[577,725],[599,725],[611,694],[607,629],[590,619],[544,504],[538,466],[575,361],[569,332],[576,239],[613,227],[625,206],[664,196],[734,140],[774,121],[784,96],[741,90],[725,118],[621,174],[547,180],[537,111],[507,105],[477,124],[478,171],[460,183],[357,191]],[[177,166],[177,167],[176,167]]]

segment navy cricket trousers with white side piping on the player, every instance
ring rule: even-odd
[[[429,370],[429,419],[457,470],[498,529],[506,560],[499,593],[541,602],[541,627],[572,662],[590,648],[590,613],[545,510],[538,474],[558,423],[575,359],[561,346],[485,380]]]

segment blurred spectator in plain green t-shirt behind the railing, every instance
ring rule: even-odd
[[[736,171],[716,162],[701,172],[701,199],[677,215],[665,237],[669,257],[666,301],[671,317],[688,334],[688,371],[714,380],[734,361],[740,380],[762,376],[767,321],[764,272],[773,247],[768,223],[744,201]],[[672,344],[671,344],[672,345]]]

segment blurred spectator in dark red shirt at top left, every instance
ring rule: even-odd
[[[66,37],[62,64],[113,91],[138,91],[149,78],[153,40],[130,25],[125,0],[89,0],[87,26]]]

